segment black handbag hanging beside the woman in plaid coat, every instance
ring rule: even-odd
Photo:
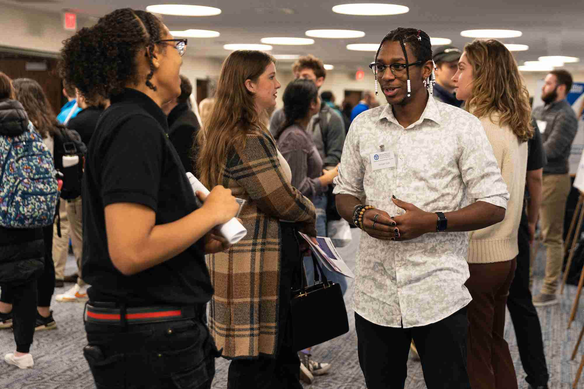
[[[300,261],[303,259],[301,255]],[[326,279],[314,253],[312,264],[315,284],[307,286],[303,275],[301,288],[292,291],[290,324],[294,350],[297,351],[349,332],[349,319],[340,285]],[[307,326],[309,322],[311,325]]]

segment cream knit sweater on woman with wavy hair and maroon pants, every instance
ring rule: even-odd
[[[481,123],[507,184],[510,198],[502,222],[468,233],[468,263],[511,261],[519,253],[517,231],[525,193],[527,142],[520,142],[509,126],[499,126],[498,116],[493,115],[492,121],[489,117],[484,117]]]

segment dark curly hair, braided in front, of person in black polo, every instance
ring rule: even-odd
[[[154,75],[154,47],[162,39],[164,25],[154,13],[131,8],[116,9],[84,27],[64,41],[59,64],[60,76],[75,85],[88,103],[110,99],[128,84],[157,90]],[[137,58],[147,48],[150,73],[139,74]],[[162,48],[165,50],[165,48]]]

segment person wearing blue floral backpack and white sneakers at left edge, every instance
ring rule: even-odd
[[[53,225],[59,196],[51,152],[0,72],[0,328],[14,329],[6,363],[34,365],[30,345],[37,316],[37,280],[45,268],[43,228]]]

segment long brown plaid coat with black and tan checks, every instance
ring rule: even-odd
[[[228,152],[223,186],[247,200],[239,215],[248,235],[227,252],[208,256],[215,289],[209,329],[227,359],[274,355],[280,286],[280,223],[316,236],[314,205],[284,177],[269,134],[250,134]]]

